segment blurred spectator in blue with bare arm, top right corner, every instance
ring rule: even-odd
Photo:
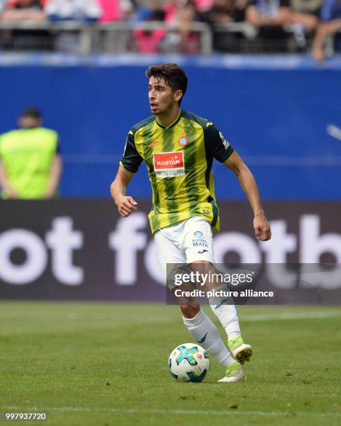
[[[317,62],[323,62],[325,58],[324,42],[326,38],[335,36],[334,49],[341,51],[341,0],[325,0],[321,10],[321,20],[315,40],[312,45],[312,56]]]

